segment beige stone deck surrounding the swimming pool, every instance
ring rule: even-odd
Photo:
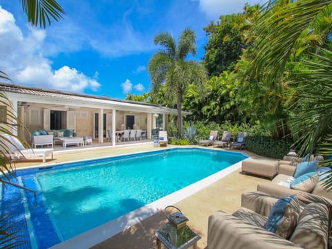
[[[167,148],[176,146],[168,145]],[[212,148],[212,147],[210,147]],[[70,151],[55,151],[53,160],[48,160],[42,164],[39,161],[29,161],[24,163],[15,163],[15,167],[30,167],[35,165],[48,165],[50,163],[62,163],[74,160],[84,160],[89,158],[102,158],[107,156],[117,156],[123,154],[132,154],[143,151],[152,151],[165,149],[165,147],[154,147],[152,142],[139,145],[123,145],[117,147],[89,147],[86,149],[77,149]],[[220,150],[220,149],[219,149]],[[232,151],[238,151],[232,149]],[[241,151],[243,154],[252,157],[259,157],[250,154],[248,151]],[[228,174],[219,181],[212,183],[203,190],[192,194],[191,196],[179,201],[178,203],[169,203],[176,205],[187,216],[187,223],[194,232],[201,236],[198,242],[198,248],[206,248],[208,236],[208,217],[217,210],[223,210],[232,213],[241,207],[241,193],[246,190],[256,190],[257,183],[260,181],[270,181],[265,178],[248,176],[240,174],[241,169]],[[93,249],[103,248],[156,248],[155,230],[167,223],[162,212],[158,212],[144,221],[131,226],[127,230],[116,234],[115,236],[93,246]]]

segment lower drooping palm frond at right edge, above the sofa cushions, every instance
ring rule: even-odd
[[[297,85],[297,100],[291,108],[297,111],[290,124],[302,156],[319,152],[323,144],[325,150],[332,148],[331,143],[326,143],[332,133],[332,52],[318,51],[320,53],[312,55],[313,62],[301,62],[298,80],[293,82]]]

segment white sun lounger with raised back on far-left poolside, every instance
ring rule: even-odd
[[[24,145],[15,137],[10,136],[8,134],[1,135],[3,138],[8,140],[8,147],[10,151],[8,151],[10,156],[10,160],[21,160],[23,159],[34,159],[34,158],[43,158],[43,163],[46,163],[46,156],[51,156],[53,160],[53,151],[54,149],[26,149]]]

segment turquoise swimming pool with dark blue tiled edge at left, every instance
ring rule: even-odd
[[[165,149],[17,171],[17,181],[37,190],[3,189],[1,210],[12,210],[31,248],[49,248],[183,189],[245,159],[210,149]],[[9,190],[10,189],[10,190]],[[9,191],[8,191],[9,190]],[[8,191],[8,192],[7,192]],[[23,207],[20,205],[23,201]],[[30,232],[29,232],[30,231]]]

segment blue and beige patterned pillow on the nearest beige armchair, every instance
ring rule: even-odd
[[[299,213],[299,201],[295,194],[279,199],[270,211],[265,228],[288,239],[297,225]]]

